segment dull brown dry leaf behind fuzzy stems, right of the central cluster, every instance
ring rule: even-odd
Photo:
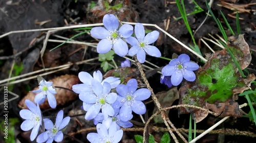
[[[159,103],[161,104],[161,106],[163,108],[165,108],[165,107],[172,106],[174,101],[179,99],[179,92],[177,90],[177,87],[175,87],[168,91],[163,91],[163,92],[157,93],[156,96],[157,96],[157,99],[158,99]],[[157,111],[158,111],[158,108],[157,108],[157,106],[155,106],[153,113],[155,113]],[[168,115],[169,110],[167,110],[165,112]],[[156,116],[154,118],[154,121],[155,121],[155,123],[163,123],[164,122],[161,115]]]

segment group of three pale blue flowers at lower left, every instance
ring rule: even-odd
[[[52,108],[55,108],[56,99],[53,94],[56,94],[56,90],[52,86],[52,82],[46,81],[42,77],[40,78],[42,80],[39,81],[39,89],[32,91],[33,93],[39,92],[35,96],[34,102],[36,104],[27,99],[25,100],[25,103],[29,109],[22,109],[19,112],[20,117],[25,119],[22,125],[20,125],[20,128],[24,131],[29,131],[33,128],[30,134],[31,141],[33,141],[36,138],[38,132],[40,132],[36,138],[36,142],[51,143],[53,140],[59,142],[63,140],[63,133],[61,130],[68,125],[70,117],[63,119],[63,110],[60,110],[56,116],[55,124],[53,124],[50,119],[42,119],[42,113],[39,108],[39,104],[44,103],[47,97],[49,105]]]

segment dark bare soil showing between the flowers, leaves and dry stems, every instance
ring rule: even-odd
[[[231,1],[231,0],[230,0]],[[227,26],[224,22],[224,19],[221,17],[220,11],[226,16],[227,21],[234,31],[236,31],[236,19],[228,16],[233,11],[221,6],[221,2],[227,2],[235,5],[246,5],[256,3],[255,0],[252,1],[233,1],[234,3],[228,0],[222,1],[214,1],[211,6],[211,10],[214,12],[215,16],[220,19],[220,21],[224,25],[224,29],[227,32],[228,36],[231,36],[230,32],[227,30]],[[74,24],[90,24],[102,22],[102,17],[107,12],[104,7],[101,7],[102,1],[99,1],[98,4],[95,2],[96,8],[90,9],[90,5],[93,1],[81,0],[76,3],[71,0],[61,0],[61,1],[43,1],[43,0],[29,0],[29,1],[0,1],[0,34],[5,34],[10,31],[18,31],[18,30],[31,30],[37,28],[49,28],[49,27],[61,27]],[[121,21],[129,21],[129,22],[140,22],[140,23],[152,23],[157,24],[164,30],[166,30],[169,34],[183,42],[185,45],[193,45],[191,41],[191,37],[187,31],[187,28],[183,22],[183,20],[175,20],[175,18],[180,17],[180,13],[178,11],[177,5],[169,2],[174,1],[113,1],[110,5],[113,6],[115,4],[123,3],[123,9],[113,10],[110,9],[108,12],[116,14]],[[206,17],[207,7],[204,0],[196,1],[197,4],[204,10],[201,13],[194,14],[188,16],[188,22],[193,31],[195,31],[198,26],[202,23],[204,18]],[[193,12],[195,5],[192,1],[185,1],[186,13]],[[248,72],[256,74],[256,5],[248,5],[245,7],[249,12],[240,13],[240,27],[241,33],[245,34],[245,41],[249,44],[252,61],[249,65]],[[236,16],[236,15],[233,15]],[[166,21],[170,20],[170,23],[166,29]],[[40,22],[47,21],[45,24],[40,25]],[[65,22],[66,21],[66,22]],[[148,30],[156,30],[155,27],[146,26]],[[63,37],[70,38],[77,34],[77,32],[73,30],[64,30],[59,31],[57,33],[53,33],[50,36],[50,39],[62,40],[54,37],[53,35],[59,35]],[[215,23],[212,17],[208,17],[204,24],[201,26],[200,30],[196,33],[195,39],[198,43],[202,54],[210,52],[210,50],[202,43],[199,42],[199,39],[202,37],[210,38],[208,34],[221,35],[217,24]],[[1,67],[1,75],[0,80],[6,79],[9,76],[9,71],[11,69],[11,65],[13,61],[17,65],[23,64],[23,71],[19,74],[25,74],[32,71],[36,71],[42,69],[42,62],[40,60],[40,50],[42,48],[42,44],[44,42],[44,36],[46,32],[29,32],[29,33],[16,33],[10,34],[4,38],[0,38],[0,67]],[[32,42],[33,40],[36,42]],[[83,42],[97,42],[95,39],[91,38],[91,36],[85,34],[75,38],[77,41]],[[32,44],[31,44],[32,43]],[[215,51],[220,50],[216,45],[207,42],[212,49]],[[51,52],[50,49],[57,46],[58,43],[48,42],[46,52],[43,56],[44,64],[46,68],[56,67],[60,65],[65,65],[67,63],[75,63],[78,61],[92,59],[98,56],[95,52],[95,48],[88,48],[85,55],[83,55],[84,47],[83,45],[77,44],[65,44]],[[167,36],[164,36],[163,33],[160,33],[160,37],[156,43],[156,46],[160,49],[162,56],[166,58],[172,58],[173,53],[181,54],[186,53],[190,56],[192,61],[198,62],[200,66],[204,64],[201,63],[200,59],[197,58],[196,55],[190,53],[188,50],[183,48],[181,45],[176,43],[174,40],[170,39]],[[71,54],[72,53],[72,54]],[[163,67],[168,61],[162,59],[156,59],[151,56],[147,56],[147,61],[152,62],[153,64]],[[115,56],[115,61],[120,63],[123,61],[122,58]],[[93,73],[95,70],[101,70],[99,62],[92,62],[93,64],[83,64],[83,65],[73,65],[71,68],[59,71],[54,74],[49,74],[44,76],[46,80],[52,79],[54,77],[65,75],[65,74],[73,74],[78,75],[80,71],[87,71],[89,73]],[[135,67],[135,66],[134,66]],[[158,69],[157,69],[158,70]],[[147,72],[148,80],[155,93],[162,92],[168,90],[167,87],[160,83],[160,75],[156,73],[156,71]],[[29,139],[30,132],[24,132],[20,129],[20,124],[23,122],[23,119],[19,116],[20,108],[17,106],[20,100],[27,95],[27,93],[37,87],[36,78],[27,80],[24,82],[19,82],[13,85],[12,92],[17,94],[19,97],[13,101],[8,103],[8,119],[17,118],[19,120],[18,123],[15,124],[15,140],[16,142],[31,142]],[[254,89],[255,87],[251,87]],[[178,87],[179,89],[179,87]],[[3,90],[3,88],[1,89]],[[1,96],[2,96],[1,92]],[[9,94],[9,99],[13,98],[13,95]],[[0,98],[0,102],[4,99]],[[150,101],[150,100],[148,100]],[[239,98],[237,101],[239,104],[246,103],[247,100],[243,97]],[[178,100],[176,100],[173,105],[177,105]],[[77,98],[76,100],[69,101],[63,105],[57,106],[56,109],[45,109],[43,111],[44,116],[56,115],[57,111],[63,109],[65,111],[65,115],[68,115],[70,111],[79,111],[80,113],[84,113],[83,110],[80,109],[82,105],[81,101]],[[154,104],[153,102],[148,103],[147,105],[147,113],[146,117],[149,118],[153,114]],[[169,105],[170,106],[170,105]],[[1,105],[1,117],[4,115],[4,107]],[[245,112],[249,112],[249,107],[243,108]],[[189,125],[189,115],[180,115],[178,116],[178,110],[173,109],[169,112],[169,118],[177,128],[185,128],[188,129]],[[3,118],[1,118],[2,120]],[[74,118],[73,118],[74,119]],[[0,121],[1,121],[0,120]],[[134,127],[144,127],[141,124],[141,120],[139,116],[134,116]],[[197,124],[197,129],[206,130],[210,126],[217,123],[221,118],[216,118],[214,116],[208,116],[202,122]],[[72,124],[69,125],[66,134],[71,132],[79,131],[80,129],[84,129],[87,127],[95,127],[92,122],[84,120],[84,116],[78,116],[76,119],[71,120]],[[139,123],[138,123],[139,122]],[[3,122],[2,122],[3,123]],[[154,124],[151,123],[151,126],[165,127],[164,124]],[[253,122],[250,122],[248,118],[229,118],[223,124],[217,127],[217,129],[236,129],[239,131],[249,131],[256,134],[256,127]],[[2,130],[0,131],[1,135],[3,135]],[[95,131],[92,131],[95,132]],[[73,135],[74,138],[79,139],[82,142],[88,142],[86,139],[86,135],[88,132],[81,132]],[[163,132],[159,132],[157,130],[151,130],[156,140],[158,142],[159,138],[162,136]],[[124,133],[122,138],[122,142],[135,142],[134,135],[140,134],[141,131],[137,132],[128,132]],[[199,134],[197,134],[199,135]],[[76,142],[72,137],[66,137],[62,142]],[[0,142],[2,142],[1,140]],[[172,139],[172,142],[173,139]],[[244,135],[221,135],[221,134],[207,134],[203,138],[201,138],[197,142],[255,142],[255,138],[246,137]]]

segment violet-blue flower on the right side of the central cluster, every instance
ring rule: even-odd
[[[146,100],[151,96],[151,92],[148,89],[142,88],[137,90],[138,82],[136,79],[130,79],[126,85],[119,84],[116,87],[118,93],[117,101],[119,101],[120,120],[123,122],[131,120],[132,111],[138,115],[142,115],[146,112],[146,107],[143,100]],[[137,91],[136,91],[137,90]]]

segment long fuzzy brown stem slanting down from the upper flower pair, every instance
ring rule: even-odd
[[[169,127],[169,124],[170,126],[175,130],[175,132],[180,136],[180,138],[184,141],[184,142],[187,142],[187,140],[183,137],[183,135],[181,135],[181,133],[177,130],[177,128],[173,125],[172,122],[170,122],[168,116],[166,115],[166,113],[162,110],[162,106],[160,105],[159,101],[157,100],[157,97],[156,95],[154,94],[153,92],[153,89],[151,88],[150,86],[150,83],[148,82],[148,80],[146,79],[146,75],[142,69],[142,66],[140,64],[140,62],[137,60],[137,57],[136,55],[134,56],[134,59],[135,59],[135,62],[136,62],[136,65],[140,71],[140,74],[141,74],[141,77],[144,81],[144,83],[146,84],[146,88],[148,90],[151,91],[151,96],[152,96],[152,99],[154,100],[154,102],[156,103],[158,109],[161,111],[161,116],[163,118],[163,121],[164,121],[164,124],[166,125],[166,127],[168,128],[168,131],[170,133],[170,135],[172,135],[172,137],[174,138],[175,142],[179,142],[177,137],[175,136],[175,134],[172,132],[172,130],[170,129]],[[169,124],[168,124],[169,123]],[[143,131],[143,143],[145,143],[145,134],[146,134],[146,128],[147,128],[147,125],[149,124],[149,122],[146,123],[145,125],[145,128],[144,128],[144,131]]]

